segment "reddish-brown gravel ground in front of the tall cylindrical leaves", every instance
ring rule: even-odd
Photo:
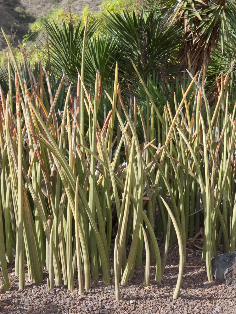
[[[164,245],[161,245],[162,252]],[[47,289],[48,273],[42,284],[28,282],[25,290],[18,290],[14,269],[9,270],[12,289],[0,291],[0,312],[7,313],[122,313],[122,314],[236,314],[236,285],[209,283],[201,250],[188,244],[186,265],[180,297],[173,300],[178,275],[178,247],[169,248],[167,266],[161,283],[156,283],[155,265],[150,269],[150,285],[143,288],[145,259],[142,269],[135,269],[127,286],[121,287],[121,300],[115,301],[115,286],[104,284],[102,277],[92,281],[91,290],[79,296],[77,288],[67,290],[64,285]],[[220,254],[222,248],[220,250]],[[191,267],[189,267],[191,266]],[[197,267],[198,266],[198,267]],[[77,282],[75,281],[75,285]]]

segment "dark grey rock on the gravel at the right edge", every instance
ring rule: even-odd
[[[236,251],[213,257],[211,265],[217,281],[227,285],[236,284]]]

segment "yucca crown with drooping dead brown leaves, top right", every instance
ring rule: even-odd
[[[227,50],[236,17],[234,0],[179,0],[172,10],[171,24],[184,30],[185,42],[178,56],[183,67],[190,62],[195,73],[208,65],[218,42],[222,53]]]

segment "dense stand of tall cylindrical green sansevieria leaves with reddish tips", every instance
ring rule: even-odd
[[[113,96],[107,91],[103,94],[99,69],[94,73],[94,89],[88,91],[83,65],[77,69],[76,85],[69,83],[64,73],[53,94],[43,66],[35,77],[25,65],[30,77],[25,81],[6,40],[16,73],[12,78],[9,67],[9,92],[4,95],[0,89],[4,288],[9,284],[6,261],[12,262],[14,249],[20,289],[25,287],[25,263],[35,282],[42,281],[42,268],[47,266],[49,288],[54,287],[54,280],[61,284],[63,278],[72,290],[78,274],[79,294],[90,289],[91,275],[99,279],[102,273],[104,282],[110,283],[111,266],[119,300],[120,284],[132,280],[135,268],[145,268],[143,284],[148,285],[149,265],[155,261],[155,280],[161,281],[168,248],[177,239],[176,299],[187,263],[186,242],[188,236],[198,234],[200,226],[204,228],[202,258],[212,280],[211,257],[217,252],[217,243],[223,243],[227,252],[235,250],[236,106],[231,108],[229,103],[229,75],[222,75],[220,81],[217,78],[219,97],[210,110],[204,68],[196,75],[189,72],[191,79],[186,90],[181,89],[180,102],[174,94],[172,103],[166,103],[160,112],[131,61],[147,95],[146,117],[137,99],[127,103],[118,62]],[[26,63],[23,49],[21,53]],[[63,109],[56,112],[64,83]],[[102,96],[112,108],[103,123],[98,119]],[[138,137],[138,118],[144,142]],[[162,260],[158,235],[165,245]]]

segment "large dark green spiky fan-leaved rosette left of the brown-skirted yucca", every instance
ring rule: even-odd
[[[181,45],[182,33],[173,27],[166,29],[157,8],[153,5],[149,11],[142,8],[140,13],[126,11],[104,15],[106,27],[116,38],[123,55],[124,76],[132,77],[130,58],[144,78],[153,70],[160,71],[166,78],[177,70],[173,61]]]

